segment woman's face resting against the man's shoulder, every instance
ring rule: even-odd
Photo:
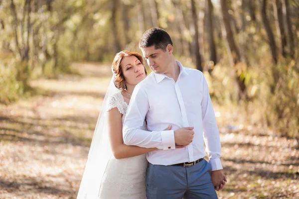
[[[121,67],[128,85],[137,85],[146,78],[145,67],[135,56],[125,57]]]

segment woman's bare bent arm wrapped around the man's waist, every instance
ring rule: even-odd
[[[122,114],[117,107],[107,112],[107,122],[110,145],[116,159],[130,158],[157,150],[157,148],[142,148],[124,144]]]

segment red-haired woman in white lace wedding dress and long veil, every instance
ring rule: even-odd
[[[133,90],[147,75],[142,56],[117,53],[112,73],[77,199],[146,199],[146,153],[156,148],[125,145],[122,134]]]

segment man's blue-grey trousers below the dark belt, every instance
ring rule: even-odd
[[[206,161],[192,167],[152,165],[147,170],[147,199],[218,199]]]

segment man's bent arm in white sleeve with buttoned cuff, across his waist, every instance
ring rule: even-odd
[[[175,149],[173,130],[146,131],[142,129],[148,111],[148,95],[137,85],[132,94],[123,126],[125,144],[163,150]]]

